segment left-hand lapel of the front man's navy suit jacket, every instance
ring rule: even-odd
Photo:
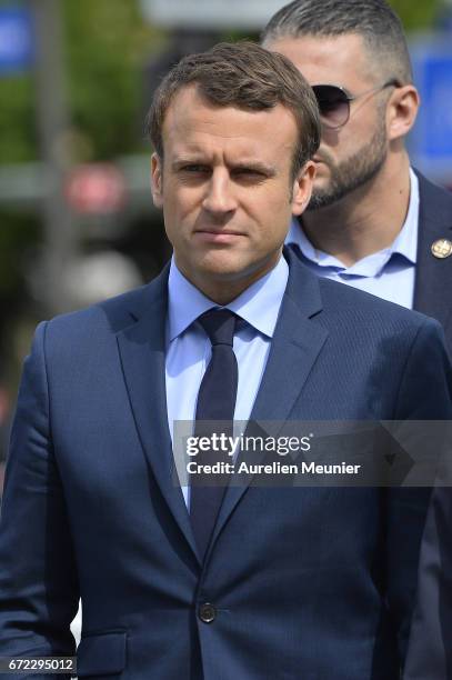
[[[117,338],[143,451],[163,498],[198,559],[183,496],[173,482],[164,379],[167,282],[168,271],[150,284],[145,309],[132,312],[135,323],[120,331]]]

